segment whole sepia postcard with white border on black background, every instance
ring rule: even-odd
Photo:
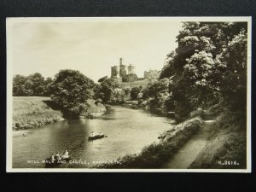
[[[6,21],[7,172],[251,172],[251,17]]]

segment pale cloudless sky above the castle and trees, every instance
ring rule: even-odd
[[[110,77],[122,57],[143,78],[144,71],[164,66],[166,55],[177,48],[181,26],[170,20],[22,20],[12,23],[7,48],[13,74],[53,78],[61,69],[75,69],[97,81]]]

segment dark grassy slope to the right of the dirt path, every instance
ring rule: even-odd
[[[245,113],[226,112],[219,115],[212,125],[209,142],[189,168],[245,169],[246,125]]]

